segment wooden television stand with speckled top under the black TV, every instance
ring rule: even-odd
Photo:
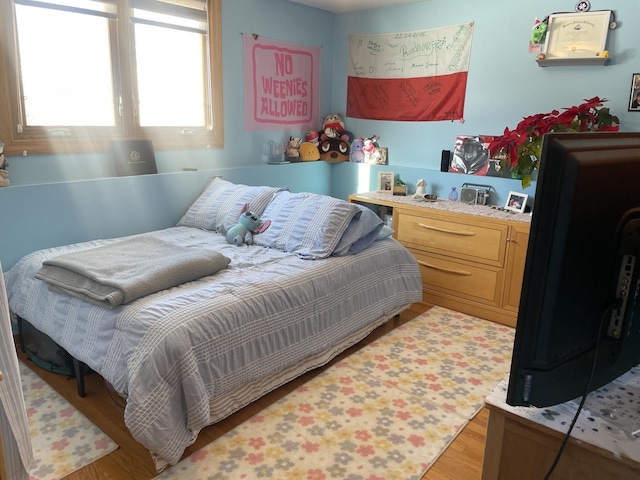
[[[607,393],[612,393],[619,385],[626,385],[629,391],[640,390],[640,366],[603,389],[610,388]],[[512,407],[505,401],[506,389],[507,380],[503,380],[485,400],[489,421],[482,480],[540,480],[553,463],[578,402],[547,408]],[[635,414],[631,414],[635,417],[616,424],[615,419],[605,418],[606,409],[605,415],[597,415],[604,400],[594,403],[592,397],[595,399],[594,393],[587,398],[551,479],[637,480],[640,478],[640,435],[629,433],[638,420],[637,403],[632,409]],[[616,403],[611,402],[612,409]]]

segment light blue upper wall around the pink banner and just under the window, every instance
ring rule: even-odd
[[[158,171],[180,172],[184,168],[201,170],[249,167],[266,164],[262,146],[278,142],[300,131],[244,131],[244,92],[242,34],[320,46],[320,107],[331,109],[333,82],[333,25],[335,15],[286,0],[222,0],[222,61],[224,93],[223,148],[157,151]],[[73,155],[28,155],[9,158],[12,185],[64,182],[115,176],[110,153]],[[269,173],[274,173],[270,175]],[[277,181],[279,172],[265,172],[263,182]],[[326,193],[329,193],[328,191]]]

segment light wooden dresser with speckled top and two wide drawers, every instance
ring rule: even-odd
[[[378,192],[349,201],[392,211],[395,238],[420,264],[426,302],[515,326],[530,215]]]

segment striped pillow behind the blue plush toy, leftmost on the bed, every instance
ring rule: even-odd
[[[238,223],[244,205],[249,204],[249,210],[262,216],[274,194],[281,190],[287,189],[252,187],[211,178],[177,225],[213,231],[224,226],[228,230]]]

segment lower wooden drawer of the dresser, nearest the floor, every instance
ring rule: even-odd
[[[411,250],[420,264],[425,290],[499,306],[503,269],[456,262],[439,255]]]

